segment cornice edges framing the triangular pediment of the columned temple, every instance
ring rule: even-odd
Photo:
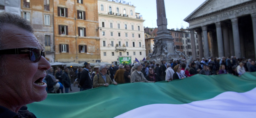
[[[212,1],[212,0],[207,1],[202,7],[200,7],[198,10],[196,10],[192,15],[189,15],[189,17],[185,18],[184,21],[190,22],[190,21],[193,21],[193,20],[196,20],[196,19],[200,19],[200,18],[212,16],[212,15],[215,15],[215,14],[219,14],[219,13],[221,13],[221,12],[229,11],[229,10],[232,10],[232,9],[235,9],[235,8],[238,8],[238,7],[245,6],[245,5],[252,4],[252,3],[255,3],[255,2],[256,2],[256,0],[252,0],[252,1],[245,2],[245,3],[241,3],[241,4],[234,5],[234,6],[231,6],[231,7],[227,7],[227,8],[225,8],[225,9],[221,9],[221,10],[218,10],[218,11],[214,11],[214,12],[211,12],[211,13],[208,13],[208,14],[204,14],[204,15],[199,16],[199,17],[196,17],[196,18],[191,18],[191,17],[193,17],[196,13],[198,13],[200,10],[202,10],[202,9],[204,8],[204,6],[206,6],[207,4],[209,4],[211,1]],[[191,18],[191,19],[190,19],[190,18]]]

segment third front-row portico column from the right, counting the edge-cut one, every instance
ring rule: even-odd
[[[216,33],[217,33],[217,42],[218,42],[218,54],[219,57],[224,56],[224,49],[223,49],[223,39],[222,39],[222,32],[221,32],[221,23],[215,23],[216,26]]]

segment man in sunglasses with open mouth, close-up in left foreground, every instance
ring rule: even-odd
[[[30,22],[17,14],[0,13],[0,116],[27,117],[19,109],[47,97],[42,82],[51,68]],[[23,116],[21,116],[23,115]]]

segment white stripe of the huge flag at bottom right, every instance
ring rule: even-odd
[[[244,93],[223,92],[188,104],[151,104],[115,118],[255,118],[256,88]]]

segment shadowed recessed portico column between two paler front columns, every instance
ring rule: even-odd
[[[225,57],[228,57],[228,56],[230,56],[230,48],[229,48],[228,26],[227,26],[227,24],[222,25],[222,32],[223,32]]]

